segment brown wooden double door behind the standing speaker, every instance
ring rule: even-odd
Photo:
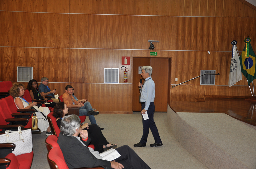
[[[142,77],[139,74],[139,67],[149,65],[153,68],[151,77],[156,86],[154,102],[155,112],[167,112],[169,59],[170,58],[133,58],[132,111],[141,111],[138,83]],[[144,83],[144,79],[142,82]]]

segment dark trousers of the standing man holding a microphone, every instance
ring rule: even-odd
[[[141,110],[143,110],[145,108],[145,105],[146,105],[146,103],[141,104]],[[154,112],[155,112],[155,104],[154,104],[154,102],[151,102],[149,107],[148,107],[148,110],[147,110],[149,119],[144,120],[143,117],[142,117],[143,135],[142,135],[141,140],[140,140],[141,144],[146,144],[147,143],[149,128],[152,132],[152,135],[155,139],[155,142],[158,143],[158,144],[162,143],[161,138],[160,138],[159,133],[158,133],[158,129],[156,127],[156,123],[154,121]]]

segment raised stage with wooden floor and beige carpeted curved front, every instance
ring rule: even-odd
[[[244,99],[171,102],[168,124],[179,143],[209,169],[256,168],[256,103]]]

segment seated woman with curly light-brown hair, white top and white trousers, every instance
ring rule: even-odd
[[[26,99],[23,98],[24,95],[24,85],[22,83],[14,83],[13,86],[10,89],[10,95],[14,98],[14,102],[18,109],[30,109],[32,106],[35,108],[38,112],[36,112],[36,116],[38,119],[37,126],[40,128],[41,132],[46,131],[46,135],[51,134],[51,128],[49,126],[49,122],[46,118],[46,116],[50,113],[50,110],[48,107],[43,108],[43,112],[38,109],[35,105],[37,105],[36,102],[28,102]]]

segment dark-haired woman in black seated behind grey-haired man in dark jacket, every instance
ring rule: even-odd
[[[53,116],[56,118],[57,125],[60,128],[62,118],[68,113],[67,105],[64,102],[56,104],[53,110]],[[82,125],[82,124],[81,124]],[[96,124],[88,125],[85,123],[81,126],[82,130],[88,131],[88,136],[92,139],[91,144],[94,145],[94,150],[100,153],[110,148],[116,148],[116,144],[110,144],[102,134],[100,127]]]

